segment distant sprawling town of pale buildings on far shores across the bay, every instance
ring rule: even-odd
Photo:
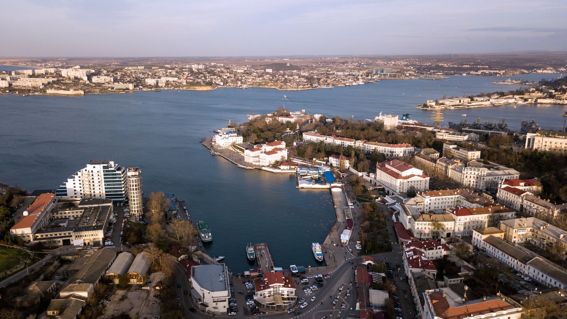
[[[159,61],[161,64],[154,59],[146,65],[132,65],[132,62],[124,59],[124,66],[117,66],[117,62],[100,62],[100,59],[77,59],[83,65],[71,64],[73,59],[18,60],[18,64],[32,66],[33,69],[11,72],[0,70],[0,92],[20,95],[84,95],[133,90],[213,90],[217,87],[305,90],[362,85],[380,79],[442,79],[448,75],[507,76],[567,72],[554,62],[553,57],[550,58],[545,68],[526,62],[513,69],[498,61],[483,64],[482,60],[467,57],[454,64],[443,61],[443,58],[424,57],[272,58],[218,62],[188,60],[186,63],[163,60]],[[532,95],[532,98],[543,100],[546,96]],[[467,105],[484,106],[484,102],[479,100]],[[428,101],[425,107],[431,107],[432,103]],[[438,103],[434,105],[462,106],[462,103]]]

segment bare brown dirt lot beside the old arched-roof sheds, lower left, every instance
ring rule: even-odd
[[[161,310],[156,295],[160,291],[154,289],[153,285],[162,279],[163,273],[155,272],[148,279],[151,281],[151,289],[142,289],[142,286],[132,285],[127,290],[115,290],[106,304],[102,318],[128,313],[131,318],[151,319],[155,314],[159,314]]]

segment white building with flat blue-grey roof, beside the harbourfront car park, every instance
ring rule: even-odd
[[[219,280],[221,279],[221,280]],[[191,267],[191,297],[207,313],[226,313],[228,308],[229,272],[224,263]]]

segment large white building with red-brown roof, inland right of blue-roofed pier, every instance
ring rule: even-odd
[[[417,167],[394,159],[376,164],[374,184],[382,185],[392,194],[429,189],[429,176]]]

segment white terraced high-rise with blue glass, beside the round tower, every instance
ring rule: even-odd
[[[122,202],[128,197],[126,169],[113,161],[92,160],[67,178],[55,191],[61,198],[109,198]]]

